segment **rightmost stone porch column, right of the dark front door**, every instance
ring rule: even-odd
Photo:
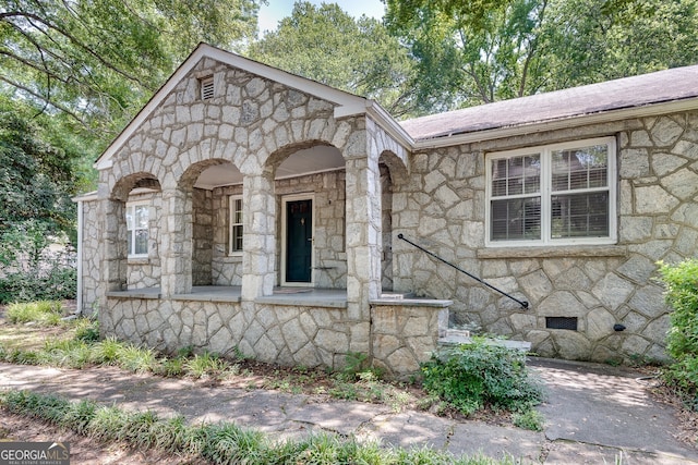
[[[348,317],[368,322],[369,303],[378,298],[381,294],[382,218],[378,156],[370,152],[365,131],[352,135],[344,156],[347,163]]]

